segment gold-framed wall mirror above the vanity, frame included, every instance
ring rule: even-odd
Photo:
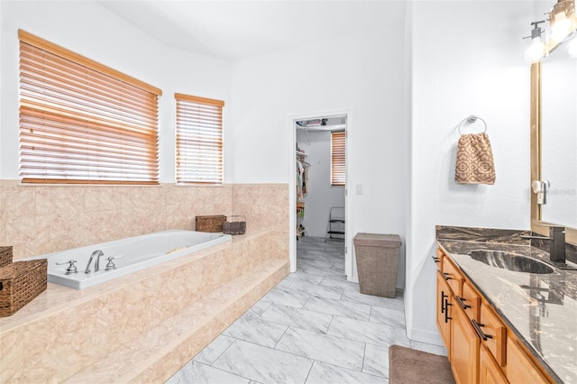
[[[531,180],[550,183],[546,204],[531,191],[531,229],[547,234],[544,224],[563,225],[566,241],[577,244],[577,58],[568,43],[550,44],[531,66]]]

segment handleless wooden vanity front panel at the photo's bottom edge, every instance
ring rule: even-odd
[[[511,384],[541,384],[549,380],[515,340],[507,338],[507,379]]]

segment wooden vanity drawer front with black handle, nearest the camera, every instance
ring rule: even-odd
[[[478,323],[481,344],[485,345],[497,363],[504,367],[507,363],[507,328],[489,306],[481,305],[481,323]],[[483,335],[485,337],[483,337]]]

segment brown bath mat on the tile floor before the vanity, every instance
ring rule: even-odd
[[[446,356],[417,351],[400,345],[389,347],[389,384],[454,383]]]

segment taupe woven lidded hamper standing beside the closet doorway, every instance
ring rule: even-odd
[[[361,293],[395,297],[400,247],[398,234],[357,233],[353,244]]]

